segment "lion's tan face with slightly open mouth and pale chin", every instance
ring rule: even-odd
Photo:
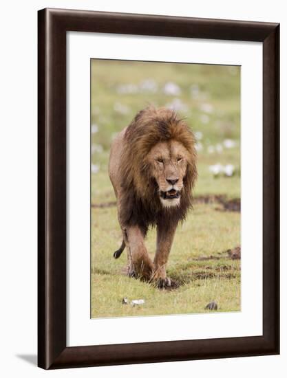
[[[147,155],[151,176],[156,179],[158,195],[164,207],[180,205],[187,156],[187,149],[176,140],[159,142]]]

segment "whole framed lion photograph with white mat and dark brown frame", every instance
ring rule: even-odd
[[[279,24],[44,9],[38,362],[279,353]]]

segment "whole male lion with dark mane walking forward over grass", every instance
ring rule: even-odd
[[[195,138],[169,109],[148,107],[121,131],[111,146],[109,177],[117,197],[118,221],[127,245],[129,276],[171,286],[167,259],[179,221],[191,208],[197,177]],[[157,227],[156,256],[145,247],[149,226]]]

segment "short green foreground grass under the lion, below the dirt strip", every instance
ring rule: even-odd
[[[127,256],[112,254],[120,245],[116,207],[92,210],[92,318],[128,315],[198,313],[211,300],[218,311],[240,309],[240,261],[222,253],[240,244],[240,214],[220,212],[216,205],[198,204],[178,227],[169,257],[167,274],[180,283],[178,289],[162,291],[125,276]],[[147,236],[153,256],[156,232]],[[198,260],[202,256],[218,259]],[[139,307],[123,305],[123,298],[145,299]]]

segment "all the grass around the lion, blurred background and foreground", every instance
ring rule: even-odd
[[[153,86],[140,89],[152,78]],[[174,82],[180,93],[164,94],[165,83]],[[119,93],[127,84],[134,93]],[[107,175],[109,146],[116,133],[127,126],[136,111],[148,102],[156,106],[176,100],[178,113],[187,118],[193,131],[201,133],[198,151],[199,178],[195,197],[224,194],[240,197],[240,70],[237,67],[92,62],[92,318],[167,315],[206,312],[215,300],[217,311],[240,310],[240,261],[231,260],[226,249],[240,245],[240,213],[219,211],[218,203],[195,203],[187,220],[178,227],[169,257],[168,275],[180,284],[165,291],[125,276],[127,255],[114,260],[121,243],[114,192]],[[204,116],[204,117],[203,117]],[[206,118],[207,117],[207,118]],[[225,148],[224,140],[235,142]],[[220,148],[216,148],[220,145]],[[232,177],[214,178],[209,166],[233,164]],[[107,205],[109,203],[109,205]],[[156,232],[147,236],[147,249],[153,256]],[[209,258],[212,256],[212,258]],[[208,259],[209,258],[209,259]],[[132,307],[128,300],[144,299]]]

